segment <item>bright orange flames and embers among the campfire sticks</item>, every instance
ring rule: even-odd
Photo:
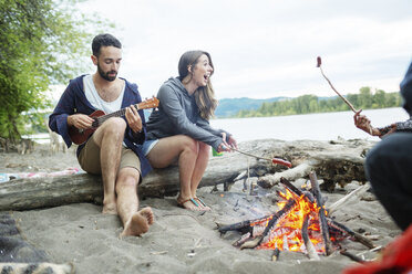
[[[301,229],[305,217],[309,215],[309,239],[318,252],[325,252],[318,220],[320,207],[318,207],[316,202],[308,201],[305,196],[298,197],[288,189],[285,193],[279,191],[278,194],[285,199],[285,201],[278,202],[279,210],[281,210],[290,199],[296,201],[296,205],[278,220],[275,228],[269,232],[268,240],[262,242],[259,249],[277,247],[281,251],[306,252]],[[268,225],[270,219],[271,218],[264,219],[250,225],[254,226],[254,231],[262,231]]]

